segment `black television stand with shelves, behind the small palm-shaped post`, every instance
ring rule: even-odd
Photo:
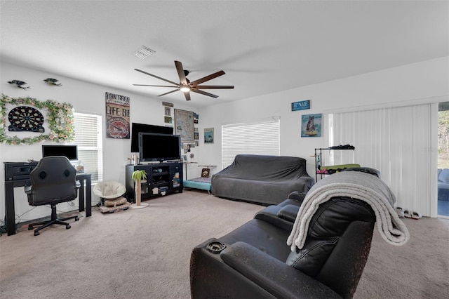
[[[142,200],[174,192],[181,193],[184,188],[182,163],[180,162],[126,165],[125,170],[126,198],[128,201],[135,202],[133,172],[137,170],[143,170],[147,173],[147,179],[140,182]]]

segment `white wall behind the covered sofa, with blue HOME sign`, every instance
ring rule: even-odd
[[[300,137],[302,114],[323,113],[324,118],[324,114],[333,110],[368,108],[373,105],[412,105],[422,101],[431,102],[431,98],[438,101],[449,94],[448,66],[448,57],[438,58],[207,107],[201,110],[200,135],[203,126],[213,127],[215,142],[213,145],[201,145],[199,155],[201,159],[207,157],[208,163],[220,166],[220,131],[223,124],[280,116],[281,155],[307,159],[307,172],[314,176],[314,158],[311,157],[314,148],[328,145],[324,137]],[[326,67],[323,67],[323,72],[326,72]],[[311,109],[292,112],[291,103],[301,100],[311,100]],[[324,125],[323,135],[326,135]],[[213,169],[212,173],[217,171],[220,171],[220,167]]]

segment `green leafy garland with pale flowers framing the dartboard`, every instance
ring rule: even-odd
[[[28,138],[7,136],[7,104],[13,106],[32,105],[38,109],[47,109],[46,121],[48,122],[50,133]],[[31,145],[32,143],[43,142],[45,140],[64,143],[74,140],[75,137],[73,107],[67,102],[60,103],[55,102],[54,100],[41,102],[34,98],[9,98],[2,93],[0,120],[2,124],[2,126],[0,126],[0,142],[6,143],[7,145]]]

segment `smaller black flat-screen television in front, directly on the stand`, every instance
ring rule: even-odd
[[[170,161],[181,159],[180,135],[140,133],[140,161]]]

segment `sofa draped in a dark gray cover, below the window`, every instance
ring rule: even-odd
[[[291,192],[307,192],[314,183],[303,158],[238,154],[212,176],[212,194],[268,206],[281,203]]]

